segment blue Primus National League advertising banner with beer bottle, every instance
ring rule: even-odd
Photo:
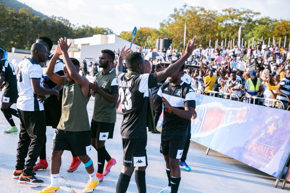
[[[290,153],[290,111],[196,94],[191,140],[278,178]]]

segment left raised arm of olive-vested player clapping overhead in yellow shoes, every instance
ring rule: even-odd
[[[55,54],[51,58],[51,60],[48,63],[47,69],[46,69],[46,75],[48,78],[50,78],[54,83],[59,85],[64,85],[64,80],[66,79],[65,76],[59,76],[58,74],[54,73],[55,63],[58,59],[58,57],[62,55],[62,52],[59,48],[59,45],[57,45],[55,49]],[[55,88],[57,89],[57,88]],[[58,90],[58,89],[57,89]],[[59,89],[61,90],[61,89]]]

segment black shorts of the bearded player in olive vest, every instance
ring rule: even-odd
[[[98,122],[92,119],[91,121],[91,138],[96,138],[101,141],[113,139],[115,123]]]

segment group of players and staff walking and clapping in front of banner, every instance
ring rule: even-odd
[[[190,119],[196,117],[195,93],[190,85],[182,81],[184,62],[194,50],[194,39],[188,42],[186,53],[181,59],[173,61],[166,70],[157,70],[155,73],[144,73],[144,57],[138,52],[132,52],[130,48],[125,50],[126,46],[119,54],[115,72],[111,68],[114,52],[102,50],[99,67],[103,71],[95,75],[94,83],[79,74],[79,61],[69,57],[70,44],[67,44],[66,38],[59,39],[55,54],[50,53],[52,45],[50,38],[38,37],[31,47],[31,58],[21,61],[16,72],[13,65],[3,59],[3,50],[0,49],[3,64],[0,89],[5,85],[1,111],[11,125],[4,132],[18,132],[12,115],[20,119],[17,164],[13,178],[22,184],[44,183],[35,177],[35,171],[48,167],[46,126],[52,126],[56,130],[50,160],[51,184],[40,193],[60,192],[58,180],[64,150],[71,151],[73,156],[67,171],[77,170],[82,162],[90,177],[83,192],[93,192],[116,164],[116,160],[105,148],[105,141],[113,139],[116,103],[120,96],[124,116],[121,125],[124,154],[116,192],[127,191],[134,170],[138,191],[146,192],[146,127],[149,131],[155,131],[153,110],[160,109],[162,103],[164,121],[160,152],[166,161],[168,187],[160,192],[177,192],[181,180],[180,158],[190,138]],[[60,55],[63,55],[64,62],[59,58]],[[122,72],[124,60],[127,73]],[[149,89],[158,87],[159,82],[164,83],[159,85],[156,97],[151,100]],[[91,96],[95,97],[95,105],[90,125],[86,106]],[[17,110],[10,108],[13,103],[17,103]],[[98,154],[97,173],[88,156],[91,146]],[[40,161],[35,165],[38,157]]]

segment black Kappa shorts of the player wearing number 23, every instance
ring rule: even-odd
[[[127,167],[147,166],[147,138],[122,139],[123,143],[123,165]]]

